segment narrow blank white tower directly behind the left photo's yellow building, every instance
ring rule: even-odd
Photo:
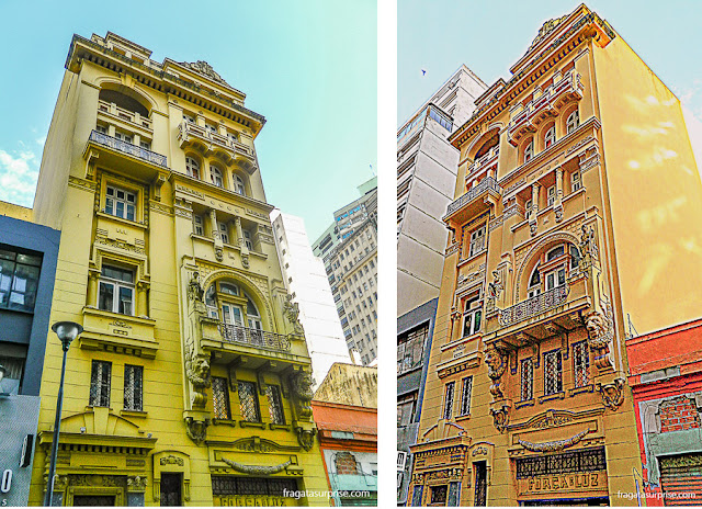
[[[325,264],[312,252],[303,218],[278,210],[271,213],[271,218],[283,281],[299,308],[299,321],[305,329],[316,389],[333,363],[350,361],[349,350]]]

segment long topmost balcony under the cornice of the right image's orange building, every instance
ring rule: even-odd
[[[524,136],[534,133],[543,122],[558,116],[558,112],[568,101],[582,99],[582,89],[580,75],[575,70],[566,72],[561,81],[547,87],[510,121],[507,128],[509,143],[513,146],[519,145]]]

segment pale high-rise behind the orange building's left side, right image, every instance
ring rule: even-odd
[[[439,296],[458,150],[448,137],[487,86],[465,65],[397,132],[397,316]],[[455,115],[455,116],[454,116]]]

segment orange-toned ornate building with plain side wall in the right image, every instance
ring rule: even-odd
[[[456,200],[408,504],[637,505],[627,315],[647,331],[702,302],[680,102],[585,5],[510,70],[450,138]]]

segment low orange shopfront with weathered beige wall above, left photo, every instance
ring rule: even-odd
[[[312,408],[330,505],[377,506],[377,370],[336,363]]]

